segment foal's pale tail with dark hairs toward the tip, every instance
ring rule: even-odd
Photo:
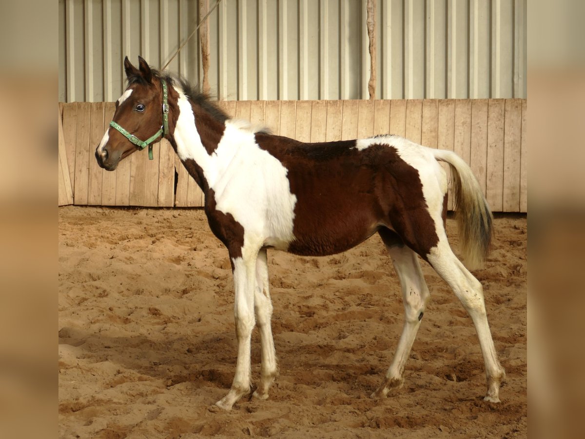
[[[491,248],[493,216],[470,167],[452,151],[432,150],[435,159],[448,163],[453,177],[453,210],[459,227],[459,248],[469,269],[479,268]]]

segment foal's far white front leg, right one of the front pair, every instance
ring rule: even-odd
[[[278,374],[278,367],[276,364],[276,352],[274,350],[274,339],[271,328],[272,303],[270,301],[266,249],[260,250],[258,259],[256,260],[254,310],[256,311],[256,325],[260,331],[262,360],[260,366],[260,383],[252,396],[258,399],[267,399],[268,390]]]

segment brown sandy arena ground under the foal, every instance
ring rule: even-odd
[[[448,233],[456,247],[451,219]],[[526,218],[496,218],[474,273],[507,371],[500,404],[483,401],[471,319],[422,265],[431,302],[404,386],[372,400],[403,318],[380,239],[327,258],[269,252],[280,377],[268,400],[219,411],[236,361],[233,284],[204,212],[60,208],[60,437],[526,437]],[[259,360],[255,331],[253,380]]]

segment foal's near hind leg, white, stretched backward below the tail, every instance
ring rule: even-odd
[[[486,368],[487,395],[484,400],[500,402],[498,394],[500,383],[505,378],[505,371],[495,353],[481,283],[453,254],[446,235],[439,236],[439,245],[431,250],[428,259],[439,276],[455,292],[475,325]]]

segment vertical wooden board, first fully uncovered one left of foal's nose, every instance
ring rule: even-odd
[[[87,204],[90,163],[91,106],[77,102],[77,131],[75,133],[75,204]]]

